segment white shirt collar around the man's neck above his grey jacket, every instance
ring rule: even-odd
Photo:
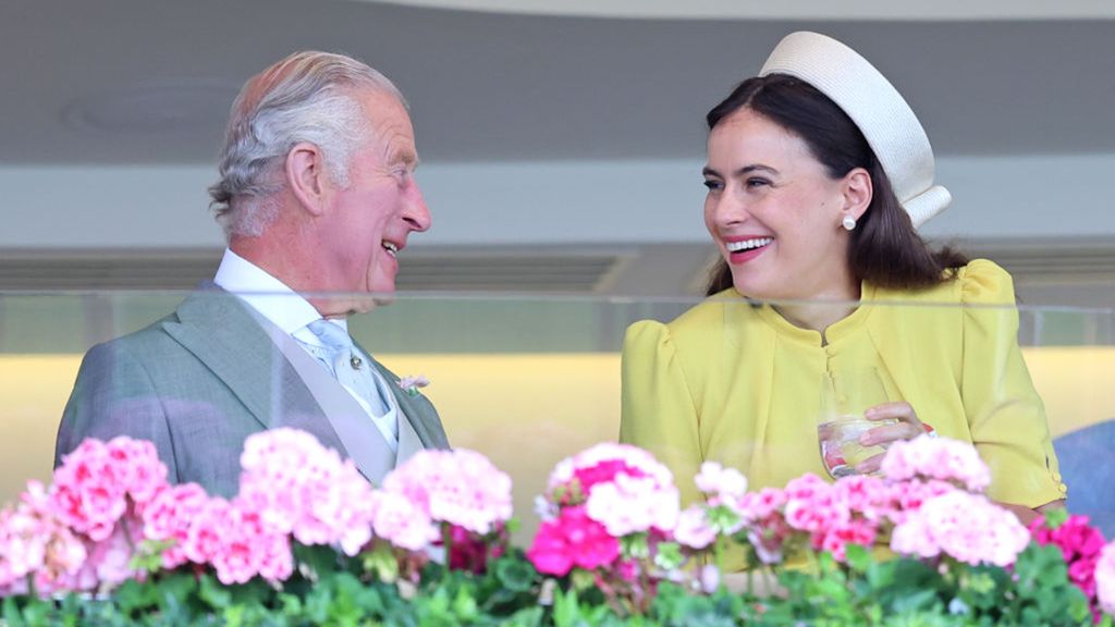
[[[213,282],[236,295],[283,332],[293,334],[321,319],[321,314],[287,283],[229,249],[224,251]],[[329,321],[348,331],[348,320]]]

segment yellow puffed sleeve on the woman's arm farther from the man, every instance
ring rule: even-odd
[[[961,389],[972,442],[991,469],[988,495],[1029,508],[1064,499],[1045,405],[1018,347],[1010,274],[977,259],[960,280],[966,305]]]

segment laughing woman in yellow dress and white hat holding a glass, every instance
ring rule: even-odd
[[[989,495],[1024,521],[1060,503],[1010,277],[917,234],[951,199],[890,83],[838,41],[796,32],[708,126],[705,223],[723,259],[704,303],[628,329],[620,440],[669,465],[686,503],[705,461],[752,489],[825,476],[820,382],[867,368],[895,401],[867,409],[882,422],[862,444],[935,431],[976,445]],[[979,307],[992,303],[1005,307]]]

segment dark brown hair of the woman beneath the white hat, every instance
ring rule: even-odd
[[[922,241],[863,133],[815,87],[783,74],[748,78],[708,112],[709,131],[745,107],[804,139],[833,179],[855,167],[871,174],[874,189],[871,204],[852,231],[847,249],[849,267],[856,280],[882,288],[917,290],[950,280],[957,268],[968,263],[952,248],[931,250]],[[731,286],[731,269],[720,259],[709,274],[706,295]]]

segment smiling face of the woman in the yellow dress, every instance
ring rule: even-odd
[[[849,177],[828,176],[804,139],[739,109],[709,133],[705,185],[705,225],[740,293],[762,300],[859,298],[841,220],[850,211],[860,216],[862,210],[850,205],[861,199],[849,193]]]

